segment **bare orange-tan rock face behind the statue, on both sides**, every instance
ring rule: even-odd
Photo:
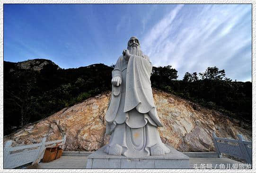
[[[212,132],[218,137],[237,138],[242,134],[252,139],[252,127],[238,120],[229,119],[175,95],[153,90],[158,115],[164,127],[159,128],[162,141],[179,151],[214,151]],[[21,130],[4,137],[13,140],[13,146],[56,140],[67,135],[65,150],[95,151],[105,145],[105,113],[110,93],[97,95],[80,104],[64,108],[50,117],[29,124]]]

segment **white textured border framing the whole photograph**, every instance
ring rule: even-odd
[[[256,1],[254,0],[0,0],[0,173],[255,173],[256,172],[256,20],[255,17],[252,18],[252,85],[253,85],[253,169],[251,170],[193,170],[193,169],[127,169],[127,170],[107,170],[107,169],[97,169],[97,170],[87,170],[87,169],[3,169],[3,4],[13,4],[13,3],[31,3],[31,4],[47,4],[47,3],[174,3],[174,4],[214,4],[214,3],[248,3],[252,4],[252,16],[256,16]]]

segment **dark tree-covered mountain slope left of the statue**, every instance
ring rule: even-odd
[[[61,69],[44,59],[4,61],[4,135],[110,90],[112,69],[104,64]]]

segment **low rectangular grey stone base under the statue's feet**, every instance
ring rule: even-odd
[[[169,147],[164,156],[126,157],[108,155],[105,146],[88,156],[87,169],[189,169],[189,157]]]

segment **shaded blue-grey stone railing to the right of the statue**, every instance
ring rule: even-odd
[[[221,153],[224,153],[226,155],[244,159],[248,164],[252,164],[252,142],[245,141],[242,135],[238,135],[238,140],[236,140],[218,138],[213,132],[212,137],[216,152],[220,157],[222,157]]]

